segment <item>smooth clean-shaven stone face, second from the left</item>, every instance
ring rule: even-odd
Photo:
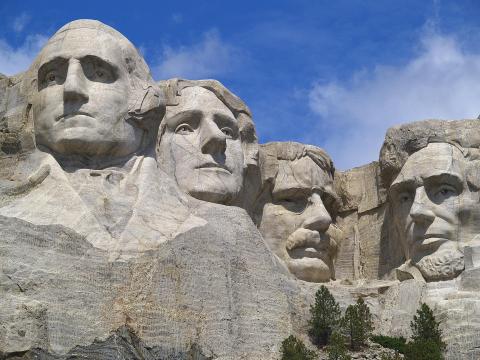
[[[191,196],[228,204],[243,187],[244,156],[238,122],[213,92],[187,87],[167,107],[159,162]]]

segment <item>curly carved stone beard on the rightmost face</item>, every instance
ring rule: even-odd
[[[459,250],[444,250],[424,256],[412,263],[420,270],[426,281],[450,280],[465,268],[463,253]]]

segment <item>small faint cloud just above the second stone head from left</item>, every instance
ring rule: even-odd
[[[240,57],[239,49],[225,43],[218,31],[211,30],[198,44],[177,49],[166,46],[160,63],[152,67],[152,72],[156,79],[218,77],[234,70]]]

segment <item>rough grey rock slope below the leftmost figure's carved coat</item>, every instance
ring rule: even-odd
[[[126,324],[146,346],[274,358],[294,330],[294,281],[242,210],[197,212],[204,227],[114,262],[65,227],[2,217],[0,350],[62,355]]]

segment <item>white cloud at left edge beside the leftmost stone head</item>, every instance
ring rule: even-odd
[[[0,39],[0,73],[14,75],[27,70],[47,40],[43,35],[29,35],[20,47],[13,48]]]

